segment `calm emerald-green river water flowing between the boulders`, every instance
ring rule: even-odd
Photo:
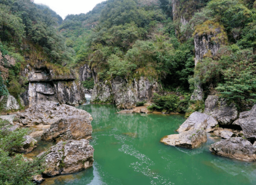
[[[93,167],[44,185],[256,185],[256,163],[212,155],[212,139],[194,150],[160,143],[175,134],[182,115],[119,115],[112,105],[79,108],[94,118]]]

